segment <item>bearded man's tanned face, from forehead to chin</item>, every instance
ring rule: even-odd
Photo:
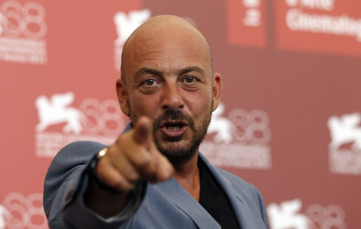
[[[216,107],[205,41],[143,39],[131,49],[124,60],[128,107],[122,110],[133,123],[143,115],[151,118],[156,146],[170,160],[190,158]]]

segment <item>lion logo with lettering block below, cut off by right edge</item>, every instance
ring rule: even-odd
[[[335,174],[361,174],[361,113],[331,116],[329,170]]]

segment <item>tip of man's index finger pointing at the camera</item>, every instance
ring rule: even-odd
[[[140,117],[134,126],[133,139],[138,144],[144,144],[152,139],[152,123],[146,117]]]

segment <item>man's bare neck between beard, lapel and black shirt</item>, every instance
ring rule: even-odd
[[[201,190],[199,169],[197,166],[198,153],[183,163],[174,164],[174,178],[196,200],[199,201]]]

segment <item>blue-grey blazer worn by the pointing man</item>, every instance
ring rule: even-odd
[[[89,179],[86,168],[92,156],[103,147],[97,142],[74,142],[54,157],[44,184],[44,209],[50,228],[220,228],[174,178],[156,184],[139,184],[128,206],[114,217],[104,219],[87,208],[82,198]],[[266,209],[258,190],[212,166],[201,153],[199,159],[223,188],[241,228],[268,228]]]

